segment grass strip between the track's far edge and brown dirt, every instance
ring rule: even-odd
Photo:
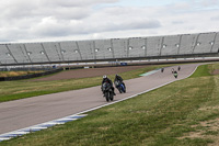
[[[164,65],[166,66],[166,65]],[[162,66],[147,66],[141,69],[119,74],[124,79],[138,78],[140,74],[153,70]],[[51,75],[49,75],[51,76]],[[115,75],[108,76],[114,79]],[[100,86],[102,77],[82,78],[82,79],[68,79],[56,81],[1,81],[0,82],[0,102],[31,98],[34,96],[42,96],[48,93],[56,93],[69,90],[77,90]]]

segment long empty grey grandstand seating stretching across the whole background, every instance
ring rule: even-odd
[[[217,56],[218,32],[150,37],[0,44],[0,66]]]

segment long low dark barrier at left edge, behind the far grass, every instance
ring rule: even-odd
[[[12,80],[31,79],[31,78],[36,78],[36,77],[42,77],[42,76],[46,76],[46,75],[50,75],[50,74],[55,74],[55,72],[59,72],[59,71],[61,71],[61,70],[62,70],[62,68],[59,68],[59,69],[53,69],[53,70],[49,70],[49,71],[39,72],[39,74],[25,75],[25,76],[16,76],[16,77],[0,77],[0,81],[12,81]]]

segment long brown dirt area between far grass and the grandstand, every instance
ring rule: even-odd
[[[66,70],[54,76],[33,79],[32,81],[49,81],[49,80],[62,80],[62,79],[77,79],[77,78],[88,78],[97,77],[103,75],[116,75],[125,71],[130,71],[146,66],[124,66],[124,67],[104,67],[104,68],[84,68],[76,70]]]

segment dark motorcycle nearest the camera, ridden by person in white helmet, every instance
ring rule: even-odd
[[[113,93],[112,87],[108,82],[104,82],[102,85],[102,90],[103,90],[104,97],[106,98],[106,101],[107,102],[113,101],[114,93]]]

